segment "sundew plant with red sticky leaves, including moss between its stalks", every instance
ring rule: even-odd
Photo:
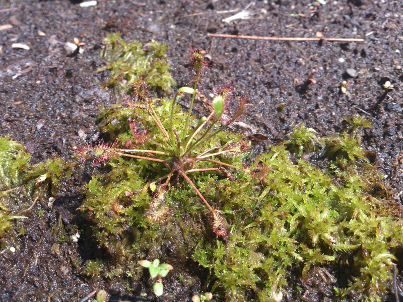
[[[138,163],[143,166],[142,169],[149,170],[147,178],[156,175],[153,181],[146,184],[136,183],[136,188],[125,191],[125,194],[130,196],[144,195],[148,189],[154,192],[146,215],[149,223],[170,213],[164,195],[169,190],[171,180],[176,182],[183,178],[209,209],[213,232],[226,237],[226,222],[220,211],[209,204],[189,178],[189,174],[210,171],[230,174],[228,169],[242,170],[239,155],[248,151],[248,141],[231,135],[231,138],[227,138],[228,135],[223,131],[241,115],[246,99],[241,98],[237,110],[233,115],[229,115],[227,107],[232,98],[232,90],[229,86],[220,87],[215,90],[216,96],[211,102],[212,112],[207,117],[196,120],[191,115],[192,106],[197,83],[208,64],[199,50],[195,49],[192,50],[190,65],[194,73],[193,88],[179,88],[172,100],[152,98],[146,79],[137,77],[135,83],[131,84],[133,97],[125,98],[125,109],[108,114],[107,117],[115,121],[112,127],[116,129],[118,126],[119,132],[122,128],[120,124],[116,125],[116,120],[126,123],[130,133],[122,133],[113,143],[82,146],[78,155],[83,161],[93,162],[117,160],[122,157],[137,159],[140,160]],[[190,95],[187,114],[177,105],[177,100],[185,95]],[[124,146],[118,147],[119,144]],[[118,199],[112,200],[118,203]],[[118,209],[119,206],[115,204],[114,210],[119,214]],[[111,224],[110,228],[115,229],[115,224]]]

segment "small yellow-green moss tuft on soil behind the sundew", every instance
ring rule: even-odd
[[[104,44],[101,56],[106,57],[108,63],[98,71],[110,70],[110,80],[106,86],[115,88],[119,95],[131,93],[129,85],[139,75],[147,78],[148,85],[154,91],[170,92],[175,85],[169,73],[166,45],[154,40],[147,44],[128,42],[120,37],[120,33],[108,35]]]

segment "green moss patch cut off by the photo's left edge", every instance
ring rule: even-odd
[[[27,218],[24,215],[31,205],[48,197],[49,186],[53,196],[63,195],[63,179],[71,176],[72,167],[60,158],[35,166],[31,166],[30,159],[31,155],[22,144],[9,136],[0,137],[0,239],[3,249],[17,247],[14,222]],[[19,235],[24,235],[22,228]]]

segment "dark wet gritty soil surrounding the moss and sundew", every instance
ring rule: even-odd
[[[188,48],[206,50],[212,59],[200,92],[229,83],[236,97],[249,99],[247,114],[237,131],[259,133],[270,143],[287,139],[293,126],[305,123],[318,135],[341,131],[345,116],[359,114],[372,120],[363,143],[376,155],[376,165],[392,189],[403,189],[403,4],[400,0],[255,1],[249,20],[222,22],[248,1],[99,1],[81,7],[74,1],[2,2],[0,26],[1,135],[24,143],[39,162],[52,156],[68,157],[71,148],[98,139],[99,107],[111,105],[113,94],[102,89],[108,72],[96,70],[102,39],[121,32],[126,40],[168,45],[168,57],[178,86],[189,81]],[[208,33],[276,37],[364,38],[365,42],[293,42],[212,38]],[[72,53],[65,43],[77,37],[83,53]],[[23,43],[29,49],[13,48]],[[316,70],[316,84],[300,86]],[[354,69],[354,70],[351,70]],[[340,92],[342,81],[347,93]],[[385,92],[389,81],[394,90]],[[203,114],[203,107],[196,107]],[[197,113],[197,112],[196,112]],[[77,184],[80,187],[80,183]],[[80,190],[78,190],[80,191]],[[81,219],[76,211],[82,196],[38,202],[26,219],[20,250],[1,253],[0,300],[78,301],[94,289],[107,289],[115,300],[139,300],[146,282],[124,288],[118,281],[78,273],[88,259],[102,251],[96,244],[64,242],[53,247],[52,230],[61,214],[68,218],[67,234]],[[45,215],[36,215],[38,209]],[[70,232],[70,233],[69,233]],[[203,272],[182,270],[193,286],[175,284],[174,300],[186,300],[200,290]],[[144,281],[144,280],[143,280]],[[202,280],[203,281],[203,280]],[[128,290],[127,287],[131,287]],[[49,297],[50,296],[50,297]],[[144,300],[144,299],[143,299]]]

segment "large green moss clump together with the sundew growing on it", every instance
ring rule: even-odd
[[[202,57],[196,51],[192,60]],[[111,167],[89,182],[81,207],[100,244],[120,259],[108,276],[125,265],[140,272],[136,261],[146,257],[169,263],[158,251],[170,243],[182,265],[192,255],[211,270],[208,290],[219,300],[281,301],[287,295],[309,301],[312,292],[340,301],[384,299],[393,291],[403,220],[387,194],[371,195],[382,178],[360,175],[372,167],[357,135],[368,123],[355,117],[350,131],[320,144],[300,126],[291,141],[245,167],[248,144],[223,131],[245,100],[224,119],[227,87],[213,99],[208,117],[191,116],[205,67],[196,63],[194,87],[180,88],[171,100],[151,98],[147,79],[138,78],[134,97],[102,115],[102,130],[116,141],[80,149],[83,160]],[[186,95],[188,113],[176,105]],[[319,154],[320,145],[325,152]],[[296,156],[317,152],[330,169],[292,161],[290,150]],[[313,275],[327,292],[315,287]]]

